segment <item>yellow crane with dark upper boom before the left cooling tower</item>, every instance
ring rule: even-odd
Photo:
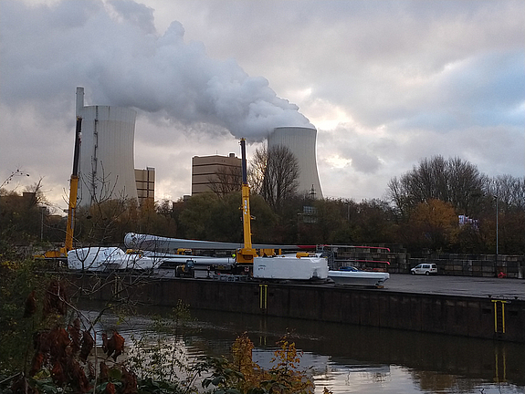
[[[69,203],[68,223],[66,225],[66,243],[58,250],[47,251],[44,258],[67,257],[68,252],[73,249],[73,229],[75,226],[75,211],[77,209],[77,194],[79,191],[79,156],[82,135],[82,118],[77,117],[77,128],[75,130],[75,151],[73,153],[73,171],[69,181]],[[42,257],[42,256],[40,256]]]

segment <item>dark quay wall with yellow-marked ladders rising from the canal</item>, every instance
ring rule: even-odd
[[[146,305],[294,317],[444,335],[496,338],[525,343],[525,301],[392,292],[335,285],[228,282],[211,279],[148,279],[72,275],[91,299],[127,299]]]

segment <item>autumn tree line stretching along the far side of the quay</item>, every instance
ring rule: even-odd
[[[356,202],[299,194],[299,166],[286,148],[257,150],[249,164],[255,244],[402,244],[415,255],[494,254],[498,232],[499,254],[525,253],[525,177],[490,178],[468,161],[434,156],[389,181],[383,199]],[[125,233],[135,232],[241,243],[239,177],[223,173],[211,192],[187,201],[79,208],[75,240],[122,244]],[[0,191],[2,240],[63,242],[64,220],[42,209],[40,185],[33,192],[28,201]]]

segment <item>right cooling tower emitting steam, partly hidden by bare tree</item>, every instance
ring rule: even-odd
[[[268,150],[278,145],[291,150],[299,162],[299,194],[310,195],[313,187],[315,198],[321,199],[322,191],[315,153],[316,136],[317,130],[311,128],[279,127],[268,136]]]

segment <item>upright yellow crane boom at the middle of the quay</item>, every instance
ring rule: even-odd
[[[237,264],[253,264],[254,257],[257,256],[257,251],[252,248],[252,233],[251,233],[251,215],[250,215],[250,187],[247,182],[247,147],[246,140],[241,139],[241,155],[242,155],[242,210],[243,210],[243,233],[244,233],[244,247],[237,250],[236,263]]]

